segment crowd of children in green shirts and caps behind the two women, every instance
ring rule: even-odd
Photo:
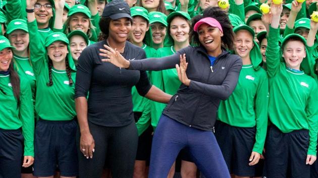
[[[217,0],[125,2],[132,17],[128,41],[147,58],[199,45],[191,41],[191,19],[218,7]],[[0,3],[0,177],[48,177],[56,170],[61,177],[79,176],[77,156],[90,157],[75,142],[80,130],[74,100],[77,64],[86,47],[107,40],[99,24],[110,2]],[[270,13],[262,14],[262,3],[271,6]],[[243,65],[234,92],[220,103],[214,128],[229,172],[236,177],[318,177],[318,22],[310,17],[318,4],[229,4],[222,11],[235,34],[230,52],[240,56]],[[211,60],[211,72],[213,66]],[[182,84],[176,69],[146,73],[151,84],[169,95]],[[167,104],[140,96],[135,86],[131,98],[139,136],[133,177],[147,177],[152,135]],[[47,130],[56,133],[47,137]],[[197,177],[200,170],[187,153],[182,149],[178,156],[181,175]],[[106,160],[100,175],[111,176],[112,163],[107,157],[98,159]],[[158,177],[173,177],[175,165]]]

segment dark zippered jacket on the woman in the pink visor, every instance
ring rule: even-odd
[[[186,74],[190,85],[181,84],[165,110],[164,115],[200,130],[213,130],[221,100],[226,100],[236,87],[242,68],[242,59],[222,48],[213,66],[205,48],[188,46],[174,55],[146,60],[131,60],[129,69],[164,70],[175,68],[180,55],[186,54]]]

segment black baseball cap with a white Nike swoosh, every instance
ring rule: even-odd
[[[110,17],[113,20],[124,17],[132,19],[130,15],[130,8],[124,0],[113,0],[110,3],[108,3],[105,6],[101,16]]]

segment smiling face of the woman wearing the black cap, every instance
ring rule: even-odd
[[[114,42],[124,43],[131,31],[131,22],[128,18],[111,20],[109,27],[109,38]]]

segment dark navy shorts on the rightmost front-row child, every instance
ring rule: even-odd
[[[308,130],[283,133],[271,125],[266,141],[265,175],[268,178],[309,178],[310,166],[306,164],[308,146]]]

